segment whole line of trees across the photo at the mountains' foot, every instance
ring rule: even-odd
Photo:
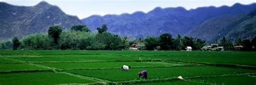
[[[91,32],[86,25],[71,27],[71,30],[63,31],[60,26],[49,27],[48,33],[30,34],[19,40],[17,37],[11,41],[0,43],[0,49],[86,49],[86,50],[120,50],[129,49],[132,44],[144,42],[146,50],[185,50],[186,46],[191,46],[193,50],[200,50],[206,44],[205,40],[181,37],[180,34],[173,38],[171,34],[164,33],[159,37],[146,37],[131,40],[128,37],[120,37],[117,34],[107,32],[107,25],[97,27],[98,32]],[[252,40],[241,40],[240,38],[233,44],[232,41],[223,37],[212,43],[223,46],[225,51],[234,51],[235,45],[242,45],[242,51],[254,51],[256,37]]]

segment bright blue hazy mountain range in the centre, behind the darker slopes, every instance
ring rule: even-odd
[[[161,33],[171,33],[185,35],[194,27],[204,23],[207,19],[224,16],[249,13],[256,8],[256,4],[232,6],[201,7],[186,10],[178,8],[155,8],[147,13],[134,12],[122,15],[93,15],[82,19],[83,23],[90,27],[92,31],[102,24],[107,24],[109,32],[133,38],[146,36],[159,36]]]

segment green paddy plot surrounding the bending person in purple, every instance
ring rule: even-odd
[[[200,76],[200,75],[223,75],[234,73],[253,73],[256,70],[250,69],[235,69],[224,67],[210,67],[210,66],[191,66],[191,67],[162,67],[162,68],[134,68],[129,71],[120,71],[120,69],[84,69],[84,70],[67,70],[67,72],[98,77],[110,81],[127,81],[137,80],[138,72],[147,70],[148,79],[163,79],[166,77],[178,76]],[[111,74],[111,75],[110,75]]]

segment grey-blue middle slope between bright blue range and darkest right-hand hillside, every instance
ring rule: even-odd
[[[219,40],[229,33],[233,27],[228,27],[246,17],[245,14],[224,15],[206,20],[199,26],[186,33],[186,36],[204,39],[206,41]]]

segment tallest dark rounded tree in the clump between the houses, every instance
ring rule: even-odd
[[[172,35],[168,33],[161,34],[159,37],[159,44],[161,49],[170,50],[173,49]]]

